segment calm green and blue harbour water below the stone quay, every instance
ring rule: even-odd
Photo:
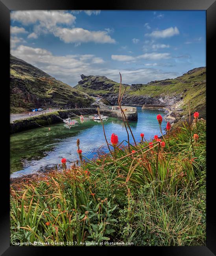
[[[155,134],[161,136],[157,114],[164,117],[165,113],[159,110],[142,110],[138,107],[138,121],[130,122],[131,129],[136,141],[140,141],[140,133],[145,134],[146,139],[152,138]],[[10,173],[11,177],[20,174],[29,174],[33,171],[44,171],[52,168],[55,164],[61,163],[61,158],[66,158],[67,162],[78,159],[76,141],[80,139],[80,148],[83,155],[93,158],[97,155],[99,147],[104,145],[102,125],[96,121],[84,121],[70,129],[64,123],[53,124],[47,128],[35,128],[32,130],[12,134],[10,138]],[[166,127],[166,121],[162,122],[162,130]],[[118,135],[119,141],[127,140],[127,133],[121,120],[110,117],[104,121],[104,128],[107,139],[110,139],[114,132]],[[130,142],[132,137],[130,136]]]

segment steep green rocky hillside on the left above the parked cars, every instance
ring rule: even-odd
[[[10,56],[11,113],[30,108],[87,107],[93,98],[67,85],[29,63]]]

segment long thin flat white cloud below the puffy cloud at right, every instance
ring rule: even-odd
[[[129,55],[112,55],[111,58],[116,61],[134,61],[138,59],[170,59],[170,53],[145,53],[138,56],[129,56]]]

